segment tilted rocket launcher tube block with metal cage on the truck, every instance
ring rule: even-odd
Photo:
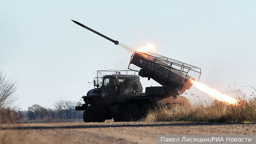
[[[135,70],[131,64],[138,66],[140,70]],[[177,88],[182,93],[192,86],[189,83],[189,79],[195,80],[195,78],[188,75],[189,72],[198,73],[199,78],[201,76],[201,69],[199,67],[151,52],[143,53],[135,51],[131,56],[128,69],[139,72],[141,77],[147,77],[148,80],[152,78],[165,89]]]

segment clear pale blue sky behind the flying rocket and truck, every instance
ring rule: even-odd
[[[22,110],[79,101],[97,70],[128,68],[131,52],[70,19],[133,48],[153,43],[220,92],[256,86],[255,0],[2,0],[0,19],[0,70],[17,81]]]

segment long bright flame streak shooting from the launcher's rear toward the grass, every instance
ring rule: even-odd
[[[193,81],[192,79],[190,79],[190,81],[192,82],[192,84],[195,87],[197,87],[201,91],[206,92],[207,94],[211,95],[212,97],[214,97],[218,101],[222,101],[222,102],[224,102],[226,104],[230,104],[230,105],[233,105],[233,106],[240,105],[239,104],[239,100],[232,98],[230,95],[221,94],[217,90],[211,89],[208,86],[206,86],[205,84],[201,84],[201,83],[199,83],[197,81]]]

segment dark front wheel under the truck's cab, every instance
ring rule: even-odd
[[[99,111],[97,105],[90,105],[84,110],[84,122],[104,122],[106,114]]]

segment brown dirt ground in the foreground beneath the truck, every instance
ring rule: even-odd
[[[256,124],[187,122],[0,125],[0,144],[155,144],[156,135],[256,135]]]

